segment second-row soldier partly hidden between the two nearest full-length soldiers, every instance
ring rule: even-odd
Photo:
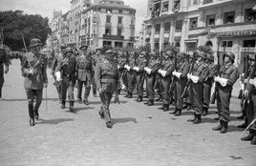
[[[206,79],[203,81],[203,116],[208,114],[208,108],[210,104],[211,97],[211,87],[214,81],[215,68],[214,65],[214,55],[207,54],[206,65],[208,67],[208,75]]]

